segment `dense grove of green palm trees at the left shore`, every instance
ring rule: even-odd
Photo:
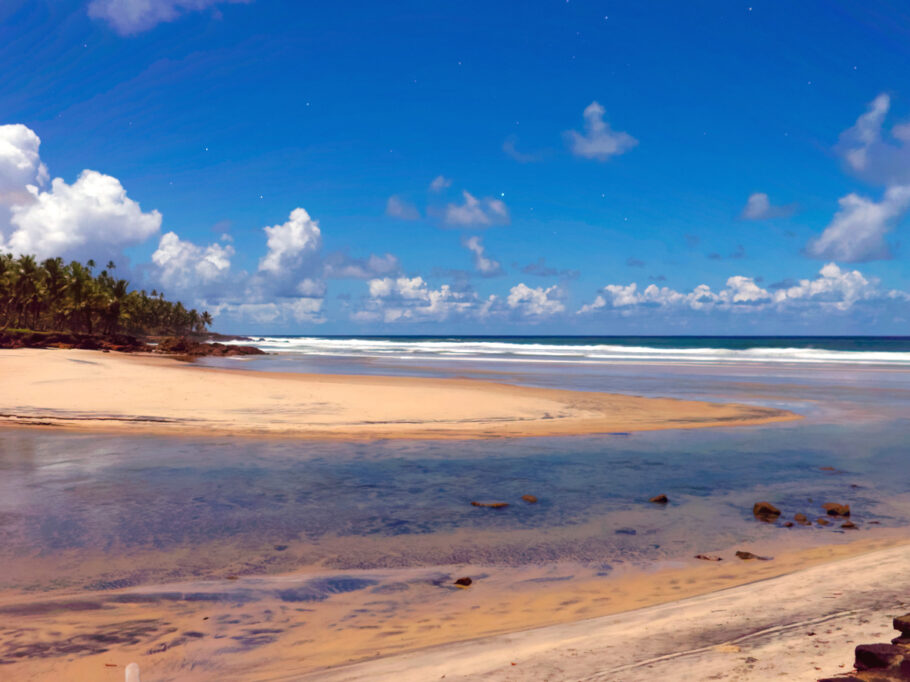
[[[130,291],[129,282],[111,274],[113,263],[97,275],[94,268],[91,260],[38,263],[0,254],[0,330],[185,336],[212,323],[207,312],[187,310],[157,291]]]

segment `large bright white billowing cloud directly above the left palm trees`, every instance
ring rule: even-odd
[[[11,213],[6,248],[39,258],[114,258],[161,228],[158,211],[143,213],[117,178],[92,170],[72,185],[55,178],[50,191],[32,188],[32,201]]]

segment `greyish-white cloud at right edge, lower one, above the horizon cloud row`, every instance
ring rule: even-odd
[[[809,255],[849,263],[889,258],[885,235],[910,208],[910,185],[890,187],[877,203],[853,193],[838,203],[831,224],[809,242]]]

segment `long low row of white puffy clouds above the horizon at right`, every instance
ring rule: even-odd
[[[623,315],[654,308],[664,310],[725,310],[755,312],[764,310],[847,311],[862,301],[906,299],[901,291],[885,291],[878,282],[867,279],[858,270],[843,270],[828,263],[815,279],[801,279],[771,290],[759,286],[752,277],[735,275],[719,291],[700,284],[688,292],[651,284],[639,289],[636,283],[608,284],[595,299],[583,305],[579,314],[614,310]]]

